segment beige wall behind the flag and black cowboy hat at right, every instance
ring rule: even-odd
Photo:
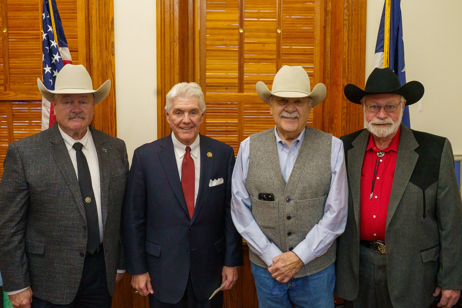
[[[384,0],[367,1],[366,79],[372,72]],[[462,1],[401,0],[406,80],[425,87],[422,111],[409,107],[411,128],[449,138],[462,154]]]

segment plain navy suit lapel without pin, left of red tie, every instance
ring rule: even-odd
[[[178,167],[176,166],[175,150],[173,149],[173,142],[171,133],[168,138],[161,140],[160,147],[163,149],[158,152],[160,163],[164,168],[165,175],[175,193],[176,199],[180,202],[183,210],[189,217],[188,207],[184,201],[183,187],[181,186],[180,175],[178,174]]]

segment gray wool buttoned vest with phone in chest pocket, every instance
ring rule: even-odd
[[[324,215],[330,188],[332,134],[305,127],[291,175],[282,175],[274,128],[250,136],[249,169],[245,187],[250,194],[252,215],[270,242],[282,252],[291,251]],[[274,201],[258,199],[259,193],[273,193]],[[265,262],[249,251],[255,265]],[[335,261],[335,242],[322,256],[303,266],[294,278],[320,272]]]

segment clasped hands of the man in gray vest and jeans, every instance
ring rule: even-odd
[[[288,282],[304,266],[303,261],[292,251],[280,254],[273,258],[273,264],[268,272],[278,282]]]

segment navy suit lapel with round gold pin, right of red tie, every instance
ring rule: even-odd
[[[199,211],[201,210],[204,198],[207,195],[208,186],[212,176],[213,161],[215,160],[213,149],[210,148],[210,143],[208,142],[207,138],[202,135],[199,135],[199,138],[201,138],[199,145],[201,148],[201,177],[199,180],[199,192],[197,193],[196,206],[194,208],[191,223],[193,223],[197,217]],[[207,153],[212,153],[212,156],[208,157]]]

